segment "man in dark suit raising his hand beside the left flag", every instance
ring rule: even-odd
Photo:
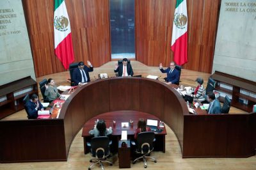
[[[90,82],[89,72],[93,72],[93,66],[90,61],[87,61],[87,64],[90,68],[85,66],[83,61],[80,61],[78,63],[78,68],[74,69],[72,73],[72,81],[75,82],[75,86],[83,85],[85,82]]]

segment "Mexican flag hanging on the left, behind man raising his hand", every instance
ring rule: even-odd
[[[74,61],[74,52],[65,0],[54,3],[54,52],[67,70]]]

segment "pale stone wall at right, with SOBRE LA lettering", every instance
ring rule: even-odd
[[[256,81],[256,0],[222,0],[212,73]]]

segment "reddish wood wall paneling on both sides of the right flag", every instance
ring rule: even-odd
[[[168,66],[173,60],[170,45],[175,3],[171,0],[136,1],[136,58],[138,61],[149,66],[157,66],[159,63]],[[187,6],[189,62],[184,65],[184,68],[211,72],[220,1],[188,0]],[[163,45],[158,45],[156,41]]]

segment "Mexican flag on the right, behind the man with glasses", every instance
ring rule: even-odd
[[[188,15],[186,0],[177,0],[172,28],[172,51],[177,65],[188,62]]]

